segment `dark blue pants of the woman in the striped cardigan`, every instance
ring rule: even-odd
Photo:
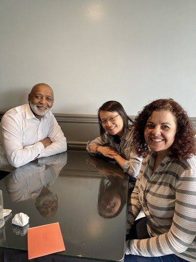
[[[149,233],[146,227],[146,217],[142,217],[135,221],[133,226],[130,229],[129,235],[127,235],[126,240],[128,239],[144,239],[149,238]],[[183,258],[180,258],[174,254],[159,256],[159,257],[146,257],[146,256],[137,256],[137,255],[125,255],[124,262],[187,262]]]

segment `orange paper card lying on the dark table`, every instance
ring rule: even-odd
[[[59,223],[28,228],[28,258],[65,250]]]

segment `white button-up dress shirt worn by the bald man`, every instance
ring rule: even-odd
[[[14,167],[67,150],[66,138],[52,112],[38,120],[29,104],[14,107],[5,113],[0,135],[0,154],[6,155]],[[40,140],[46,137],[51,139],[52,144],[44,148]]]

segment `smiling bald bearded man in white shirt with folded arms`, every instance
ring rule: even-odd
[[[14,167],[67,150],[66,138],[51,112],[52,88],[36,84],[28,100],[29,104],[9,110],[0,125],[0,155]]]

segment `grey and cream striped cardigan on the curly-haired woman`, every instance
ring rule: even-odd
[[[177,161],[166,156],[153,173],[156,152],[142,161],[128,206],[128,226],[141,208],[151,238],[132,239],[126,254],[176,254],[196,261],[196,156]]]

